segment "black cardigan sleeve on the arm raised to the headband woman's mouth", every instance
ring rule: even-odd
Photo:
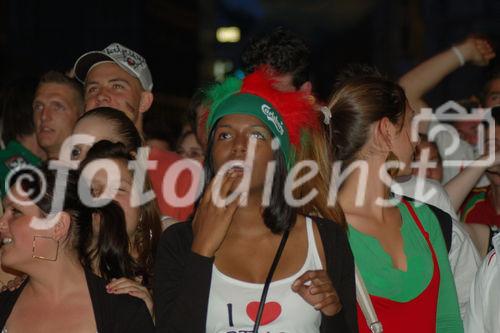
[[[191,251],[188,222],[162,234],[155,264],[153,299],[158,332],[204,332],[213,258]]]

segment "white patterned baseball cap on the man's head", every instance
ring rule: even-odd
[[[151,91],[153,89],[153,79],[146,59],[139,53],[118,43],[109,44],[102,51],[87,52],[78,58],[73,67],[75,77],[78,81],[85,83],[87,74],[92,67],[105,61],[114,62],[130,75],[136,77],[144,90]]]

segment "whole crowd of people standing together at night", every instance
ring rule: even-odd
[[[178,138],[118,43],[9,86],[1,332],[500,331],[500,71],[424,101],[495,56],[469,37],[396,80],[352,65],[323,103],[278,28]]]

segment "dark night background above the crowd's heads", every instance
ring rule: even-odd
[[[67,70],[84,52],[117,41],[145,56],[155,97],[175,118],[213,78],[214,61],[237,68],[248,40],[278,25],[311,46],[313,83],[322,98],[350,62],[374,64],[396,78],[469,33],[489,37],[497,53],[500,44],[499,0],[1,1],[1,86]],[[218,43],[219,26],[238,26],[241,41]],[[431,104],[477,92],[484,72],[458,70],[429,96]]]

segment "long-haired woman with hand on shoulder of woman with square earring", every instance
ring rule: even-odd
[[[90,164],[98,168],[103,167],[103,163],[113,163],[119,173],[107,174],[104,169],[100,169],[90,179],[87,179],[92,195],[102,199],[113,199],[122,208],[125,216],[125,224],[128,241],[128,251],[134,261],[134,273],[117,276],[109,274],[109,266],[100,263],[101,258],[114,253],[114,244],[120,242],[116,239],[121,237],[113,230],[105,229],[106,224],[99,222],[93,226],[94,241],[89,244],[87,251],[92,259],[92,267],[97,274],[107,278],[110,282],[107,289],[110,293],[129,294],[144,300],[151,315],[153,315],[153,300],[150,290],[152,289],[153,267],[158,240],[161,234],[161,222],[158,206],[155,200],[134,205],[133,198],[138,198],[141,189],[134,188],[134,173],[128,169],[129,162],[135,161],[135,151],[128,151],[126,146],[120,142],[112,143],[107,140],[97,142],[87,152],[86,158],[82,161],[80,169],[82,177],[87,178],[86,167]],[[150,189],[146,186],[145,190]],[[112,197],[108,193],[103,193],[106,188],[114,190]],[[116,263],[120,265],[120,263]]]

